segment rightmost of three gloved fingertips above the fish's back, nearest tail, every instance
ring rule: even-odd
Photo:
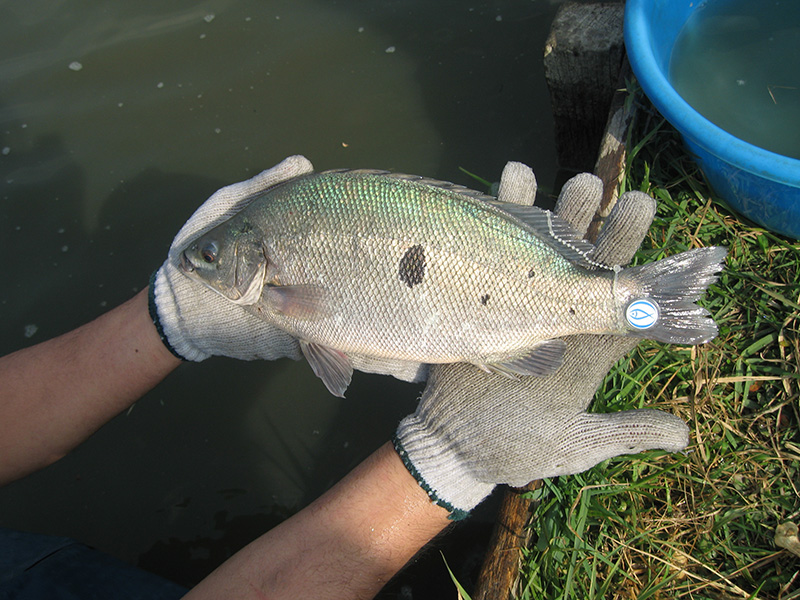
[[[625,192],[617,200],[597,238],[594,260],[627,265],[656,215],[656,201],[644,192]]]

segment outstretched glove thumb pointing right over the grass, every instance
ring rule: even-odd
[[[539,477],[553,477],[580,473],[623,454],[656,449],[680,452],[688,445],[686,423],[660,410],[580,413],[554,448],[555,455],[550,460],[541,456],[536,460],[545,469]]]

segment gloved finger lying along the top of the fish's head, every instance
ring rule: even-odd
[[[189,217],[172,241],[172,250],[183,250],[192,239],[232,217],[255,194],[282,181],[311,173],[313,170],[314,166],[307,158],[295,155],[285,158],[274,167],[250,179],[220,188]]]

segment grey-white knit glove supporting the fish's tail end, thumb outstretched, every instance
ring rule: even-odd
[[[589,174],[562,189],[556,213],[585,232],[602,196]],[[499,200],[533,202],[536,180],[509,163]],[[623,194],[597,240],[593,258],[630,262],[655,215],[655,201]],[[608,370],[639,340],[621,336],[564,338],[562,366],[547,377],[509,379],[469,364],[432,366],[416,412],[403,419],[395,449],[420,485],[451,518],[465,517],[496,484],[522,486],[535,479],[579,473],[620,454],[688,444],[688,427],[657,410],[586,412]]]

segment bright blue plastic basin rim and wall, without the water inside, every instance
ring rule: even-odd
[[[703,4],[627,0],[625,46],[633,72],[653,105],[680,132],[714,192],[756,223],[800,239],[800,160],[753,146],[717,127],[669,82],[675,39]]]

